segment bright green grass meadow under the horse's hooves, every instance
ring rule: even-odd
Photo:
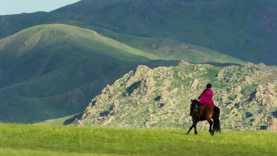
[[[187,127],[184,127],[187,128]],[[275,155],[274,132],[0,125],[1,155]]]

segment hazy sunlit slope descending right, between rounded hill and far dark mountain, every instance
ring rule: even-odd
[[[72,23],[71,23],[72,24]],[[74,23],[78,26],[82,24]],[[177,42],[168,38],[139,37],[130,34],[122,34],[107,30],[105,28],[85,26],[97,32],[113,38],[116,41],[125,43],[136,49],[141,49],[148,53],[160,56],[167,60],[184,60],[194,63],[219,62],[243,64],[240,59],[226,55],[211,49],[195,46],[187,43]]]

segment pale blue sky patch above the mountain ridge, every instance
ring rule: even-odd
[[[0,0],[0,15],[52,11],[80,0]]]

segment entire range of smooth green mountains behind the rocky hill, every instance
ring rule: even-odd
[[[275,1],[83,0],[0,16],[1,122],[82,112],[138,65],[276,65]],[[17,114],[17,115],[10,115]]]

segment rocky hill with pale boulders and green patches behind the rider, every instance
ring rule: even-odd
[[[277,68],[251,63],[219,67],[181,62],[138,66],[107,85],[75,125],[184,128],[191,125],[190,100],[212,83],[225,130],[277,130]],[[199,127],[207,128],[208,123]]]

